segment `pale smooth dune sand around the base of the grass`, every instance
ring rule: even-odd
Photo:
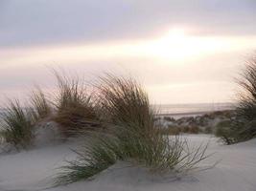
[[[208,141],[208,136],[188,136],[192,144]],[[75,143],[42,147],[18,154],[0,156],[0,191],[43,190],[51,185],[51,176],[63,159],[75,158],[69,148]],[[214,157],[200,165],[205,166],[221,159],[213,169],[195,172],[182,179],[151,176],[145,169],[127,167],[119,162],[96,176],[67,186],[48,189],[50,191],[82,190],[161,190],[161,191],[255,191],[256,190],[256,139],[231,146],[217,143],[211,138],[209,153]]]

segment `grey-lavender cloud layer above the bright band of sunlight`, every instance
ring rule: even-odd
[[[256,33],[255,0],[1,0],[0,47],[141,38],[172,26]]]

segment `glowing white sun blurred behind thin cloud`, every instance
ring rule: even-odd
[[[149,54],[165,60],[179,61],[214,53],[220,43],[208,37],[189,34],[185,29],[175,28],[148,44]]]

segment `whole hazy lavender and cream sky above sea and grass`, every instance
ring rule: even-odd
[[[0,0],[0,103],[57,68],[132,75],[157,104],[234,101],[255,50],[255,0]]]

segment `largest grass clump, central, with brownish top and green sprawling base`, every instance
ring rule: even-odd
[[[69,161],[58,183],[89,179],[117,160],[167,173],[193,169],[207,158],[207,146],[192,151],[186,140],[163,135],[148,95],[135,80],[106,74],[97,88],[107,135],[94,137],[96,143],[92,141],[78,153],[79,159]]]

